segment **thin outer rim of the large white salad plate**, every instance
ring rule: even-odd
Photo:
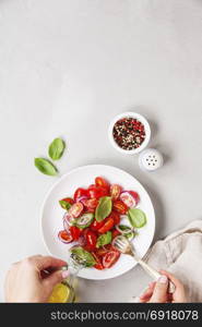
[[[43,201],[43,203],[41,203],[41,205],[40,205],[40,209],[39,209],[39,220],[40,220],[40,221],[39,221],[39,229],[40,229],[40,238],[43,239],[43,243],[44,243],[44,245],[45,245],[45,249],[46,249],[47,253],[48,253],[49,255],[51,255],[51,256],[55,256],[55,255],[54,255],[54,254],[49,251],[49,249],[48,249],[48,245],[47,245],[47,243],[46,243],[46,241],[45,241],[44,230],[43,230],[43,216],[44,216],[43,214],[44,214],[44,208],[45,208],[46,201],[47,201],[47,198],[49,197],[51,191],[52,191],[52,190],[54,190],[54,189],[55,189],[55,187],[56,187],[63,179],[66,179],[69,174],[71,174],[71,173],[73,173],[73,172],[76,172],[78,170],[85,169],[85,168],[90,168],[90,167],[108,167],[108,168],[112,168],[112,169],[119,170],[119,171],[121,171],[121,172],[124,172],[126,174],[128,174],[129,177],[132,177],[134,180],[136,180],[136,181],[139,182],[139,180],[138,180],[136,178],[134,178],[131,173],[129,173],[128,171],[126,171],[126,170],[123,170],[123,169],[121,169],[121,168],[115,167],[115,166],[103,165],[103,164],[92,164],[92,165],[90,164],[90,165],[79,166],[79,167],[75,167],[75,168],[71,169],[70,171],[68,171],[68,172],[64,173],[63,175],[59,177],[58,181],[56,181],[56,182],[49,187],[49,190],[46,192],[45,197],[44,197],[44,201]],[[153,229],[153,234],[152,234],[152,239],[151,239],[151,244],[152,244],[152,242],[153,242],[153,240],[154,240],[155,230],[156,230],[156,216],[155,216],[155,210],[154,210],[154,206],[153,206],[153,203],[152,203],[152,199],[151,199],[151,196],[150,196],[148,192],[145,190],[145,187],[142,185],[141,182],[139,182],[139,183],[141,184],[141,186],[142,186],[142,189],[144,190],[144,192],[148,195],[148,198],[150,198],[151,204],[152,204],[152,209],[153,209],[153,215],[154,215],[154,221],[153,221],[153,222],[154,222],[154,229]],[[150,247],[151,247],[151,244],[150,244],[147,251],[145,252],[145,254],[144,254],[143,256],[145,256],[145,255],[147,254],[147,252],[148,252],[148,250],[150,250]],[[142,257],[143,257],[143,256],[142,256]],[[100,279],[99,279],[99,278],[87,278],[87,277],[80,276],[80,274],[78,275],[78,277],[83,278],[83,279],[87,279],[87,280],[108,280],[108,279],[112,279],[112,278],[120,277],[120,276],[122,276],[122,275],[129,272],[129,271],[132,270],[136,265],[138,265],[138,263],[135,262],[134,265],[133,265],[133,267],[130,268],[129,270],[123,271],[123,272],[121,272],[121,274],[119,274],[119,275],[116,275],[116,276],[107,277],[107,278],[100,278]]]

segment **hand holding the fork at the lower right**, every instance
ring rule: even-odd
[[[183,284],[168,271],[161,270],[162,277],[156,282],[151,282],[145,292],[140,296],[142,303],[182,303],[187,302]],[[176,290],[168,293],[168,281],[171,281]]]

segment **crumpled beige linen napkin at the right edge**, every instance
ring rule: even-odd
[[[185,284],[188,302],[202,302],[202,220],[194,220],[156,242],[145,261],[179,278]]]

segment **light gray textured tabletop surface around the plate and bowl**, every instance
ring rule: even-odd
[[[0,1],[0,280],[12,262],[41,253],[39,207],[56,179],[33,158],[68,140],[61,173],[114,165],[136,177],[156,210],[159,239],[201,218],[202,1]],[[142,172],[107,140],[124,110],[147,117],[164,168]],[[127,301],[148,278],[139,268],[80,280],[81,300]],[[1,293],[0,300],[3,301]]]

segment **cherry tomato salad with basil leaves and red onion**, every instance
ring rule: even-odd
[[[135,191],[126,191],[118,184],[109,184],[97,177],[87,189],[78,189],[73,197],[59,201],[66,210],[61,242],[73,243],[71,253],[85,262],[86,267],[110,268],[120,253],[112,246],[119,234],[129,240],[146,223],[146,216],[136,206],[140,196]],[[122,223],[126,220],[128,223]]]

